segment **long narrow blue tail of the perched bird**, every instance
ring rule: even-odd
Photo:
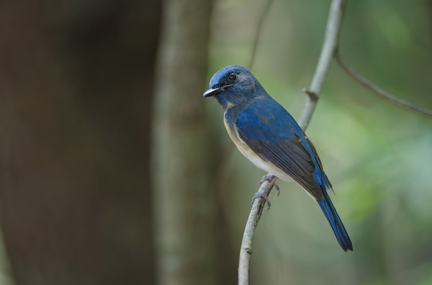
[[[339,242],[340,246],[344,251],[347,251],[348,249],[352,251],[353,244],[351,243],[348,233],[346,233],[344,224],[342,224],[339,215],[337,215],[336,209],[333,206],[330,197],[328,197],[327,191],[324,190],[323,193],[324,193],[324,199],[317,200],[317,202],[318,204],[320,204],[322,212],[324,213],[328,222],[330,223],[331,229],[333,229],[333,233],[335,233],[336,235],[337,242]]]

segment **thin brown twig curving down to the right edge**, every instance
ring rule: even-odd
[[[354,78],[355,81],[362,84],[364,87],[372,90],[380,96],[381,98],[384,98],[386,101],[389,101],[391,103],[394,103],[396,105],[400,105],[402,107],[406,107],[408,109],[411,109],[415,112],[418,112],[420,114],[426,115],[426,116],[432,116],[432,110],[426,109],[424,107],[421,107],[419,105],[416,105],[415,103],[412,103],[411,101],[407,101],[405,99],[402,99],[400,97],[397,97],[389,92],[386,92],[384,89],[381,89],[377,85],[373,84],[371,81],[369,81],[367,78],[364,78],[362,74],[359,74],[358,72],[355,72],[351,67],[349,67],[341,58],[340,53],[337,51],[335,53],[335,60],[337,63],[339,63],[340,67],[342,67],[345,72],[350,75],[352,78]]]

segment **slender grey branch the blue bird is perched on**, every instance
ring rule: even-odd
[[[303,129],[306,129],[308,123],[311,120],[318,96],[321,92],[322,85],[324,84],[324,79],[326,78],[326,74],[330,68],[333,54],[336,52],[345,3],[345,0],[333,0],[331,3],[320,60],[318,61],[311,87],[306,89],[306,94],[309,96],[306,98],[306,105],[299,120],[299,125]],[[268,181],[264,181],[261,184],[259,191],[265,189],[267,186]],[[261,218],[262,209],[264,208],[265,203],[266,200],[264,198],[255,199],[251,213],[249,213],[248,222],[246,223],[246,228],[244,229],[242,246],[240,248],[239,285],[248,285],[253,237],[255,235],[255,230],[257,229],[257,224],[259,222],[259,218]]]

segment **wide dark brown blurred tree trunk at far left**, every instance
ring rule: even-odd
[[[1,1],[0,221],[18,285],[153,284],[155,1]]]

